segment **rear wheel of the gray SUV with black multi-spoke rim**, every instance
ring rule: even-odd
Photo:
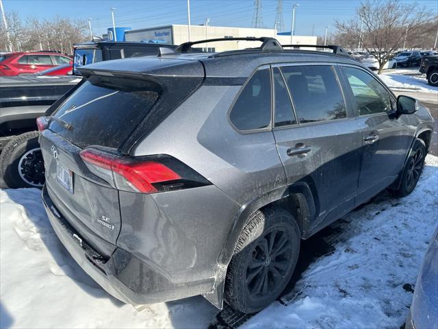
[[[227,271],[224,298],[235,310],[255,313],[285,289],[300,252],[300,228],[283,209],[251,215]]]

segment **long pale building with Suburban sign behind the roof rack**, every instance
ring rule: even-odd
[[[274,29],[252,29],[246,27],[218,27],[208,25],[191,25],[190,41],[213,39],[213,38],[244,38],[248,36],[261,37],[270,36],[276,38],[282,45],[291,44],[290,34],[279,35]],[[316,36],[293,36],[294,45],[316,45]],[[125,31],[126,41],[143,41],[155,43],[172,43],[179,45],[189,40],[188,25],[165,25],[150,27],[145,29],[131,29]],[[228,51],[257,47],[250,41],[230,41],[230,42],[209,42],[205,45],[196,47],[207,48],[208,51]]]

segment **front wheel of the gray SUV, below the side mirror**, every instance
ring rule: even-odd
[[[415,139],[409,156],[401,172],[400,185],[398,189],[392,190],[396,197],[405,197],[414,190],[417,186],[420,175],[424,167],[424,159],[426,158],[426,144],[420,138]]]

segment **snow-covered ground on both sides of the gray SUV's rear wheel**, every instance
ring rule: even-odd
[[[332,224],[333,251],[243,327],[399,328],[437,213],[438,158],[429,155],[411,195],[382,193]],[[37,189],[0,191],[0,217],[1,328],[206,328],[217,313],[202,297],[141,308],[115,300],[57,240]]]

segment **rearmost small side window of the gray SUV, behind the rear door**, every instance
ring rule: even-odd
[[[271,122],[271,81],[269,69],[257,71],[244,86],[230,112],[238,130],[266,128]]]

